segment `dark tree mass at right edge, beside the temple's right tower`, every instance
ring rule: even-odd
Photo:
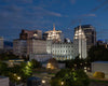
[[[108,61],[108,48],[103,45],[92,46],[87,56],[90,61]]]

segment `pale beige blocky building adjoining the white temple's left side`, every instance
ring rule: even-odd
[[[46,41],[44,40],[27,40],[27,55],[29,60],[36,59],[38,61],[46,61],[52,55],[46,52]]]

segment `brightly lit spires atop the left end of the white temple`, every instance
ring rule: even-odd
[[[53,40],[53,42],[64,41],[63,32],[60,30],[55,30],[55,26],[53,26],[53,30],[46,31],[44,37],[46,40]]]

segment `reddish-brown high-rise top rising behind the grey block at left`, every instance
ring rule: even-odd
[[[19,34],[19,39],[28,40],[28,39],[42,39],[42,31],[41,30],[22,30]]]

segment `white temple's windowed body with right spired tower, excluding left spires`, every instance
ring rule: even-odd
[[[75,59],[77,56],[86,58],[86,38],[81,27],[75,32],[73,43],[70,40],[66,42],[46,41],[46,52],[52,54],[57,60]]]

